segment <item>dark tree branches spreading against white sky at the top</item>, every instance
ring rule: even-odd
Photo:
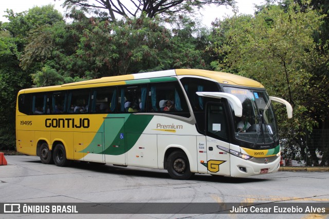
[[[102,13],[100,10],[107,10],[109,17],[113,21],[116,15],[124,17],[137,17],[145,13],[147,17],[152,18],[156,15],[162,17],[172,16],[173,14],[192,13],[194,8],[203,8],[205,5],[228,5],[234,6],[234,0],[65,0],[63,6],[71,8],[80,7],[82,10],[93,10],[97,14]]]

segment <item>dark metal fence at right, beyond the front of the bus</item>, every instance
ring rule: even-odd
[[[323,167],[329,164],[329,129],[281,130],[284,166]]]

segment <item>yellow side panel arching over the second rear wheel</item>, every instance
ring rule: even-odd
[[[62,142],[65,147],[66,158],[68,160],[74,160],[73,132],[52,131],[51,132],[52,150],[56,146],[54,144],[55,141]]]

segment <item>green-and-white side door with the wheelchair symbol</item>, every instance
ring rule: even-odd
[[[105,162],[126,165],[124,118],[104,118]]]

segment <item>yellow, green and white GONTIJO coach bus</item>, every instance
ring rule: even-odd
[[[166,169],[177,180],[272,173],[280,167],[272,102],[292,117],[291,105],[259,82],[197,69],[24,89],[17,95],[16,148],[44,164]]]

